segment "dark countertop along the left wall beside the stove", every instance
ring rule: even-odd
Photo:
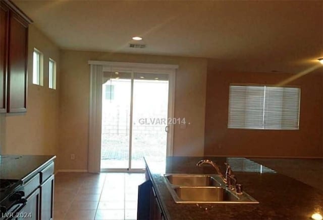
[[[0,179],[17,180],[16,185],[28,181],[34,174],[51,163],[56,156],[38,155],[1,155]],[[13,185],[10,189],[15,188]],[[10,190],[8,189],[8,190]],[[1,192],[0,200],[6,197],[8,190]]]

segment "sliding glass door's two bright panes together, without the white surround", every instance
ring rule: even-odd
[[[101,171],[142,170],[167,154],[169,74],[103,72]]]

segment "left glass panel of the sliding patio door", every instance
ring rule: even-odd
[[[101,169],[128,169],[131,73],[103,72]]]

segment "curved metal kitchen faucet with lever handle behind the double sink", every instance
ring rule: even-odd
[[[222,175],[219,166],[211,160],[200,160],[197,162],[196,166],[201,166],[202,164],[209,164],[211,165],[221,177],[224,183],[226,183],[226,187],[232,191],[235,191],[236,194],[242,194],[242,185],[238,184],[237,178],[233,175],[232,169],[228,163],[225,163],[226,175],[225,177]]]

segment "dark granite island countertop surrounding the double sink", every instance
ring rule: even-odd
[[[164,174],[214,174],[209,166],[196,166],[201,159],[211,159],[223,172],[224,162],[228,162],[244,191],[259,204],[213,204],[213,208],[204,210],[196,204],[175,203]],[[167,219],[310,219],[314,212],[323,212],[321,191],[245,158],[168,157],[162,162],[145,161]]]

